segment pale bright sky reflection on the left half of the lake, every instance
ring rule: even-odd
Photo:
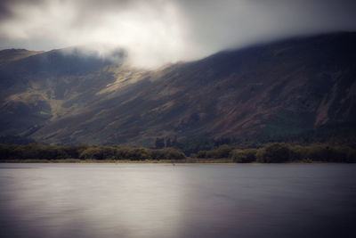
[[[2,171],[1,186],[7,188],[7,193],[1,196],[9,206],[1,209],[12,216],[14,222],[8,225],[15,234],[176,234],[181,200],[176,185],[180,177],[170,167],[47,167]]]

